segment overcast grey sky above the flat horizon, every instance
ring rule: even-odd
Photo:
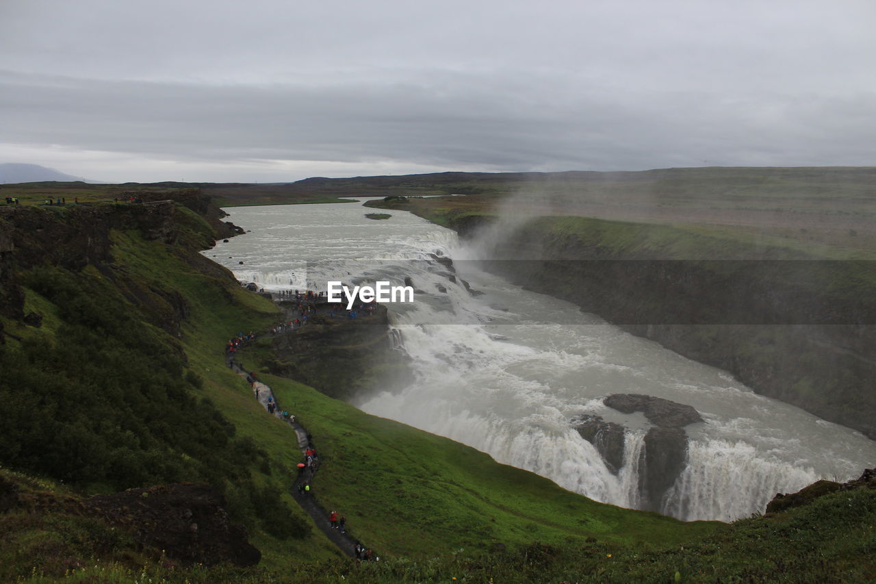
[[[108,182],[873,166],[873,0],[0,0],[0,162]]]

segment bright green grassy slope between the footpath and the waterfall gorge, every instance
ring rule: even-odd
[[[424,555],[531,541],[684,541],[718,529],[590,501],[468,446],[365,415],[262,374],[311,432],[325,463],[316,496],[380,552]],[[291,405],[286,405],[291,404]]]

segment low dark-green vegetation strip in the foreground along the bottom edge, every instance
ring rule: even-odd
[[[31,517],[13,513],[0,516],[0,527]],[[26,549],[39,558],[47,550],[59,552],[59,539],[88,546],[100,542],[124,549],[124,535],[100,524],[67,516],[43,518],[40,538],[31,538]],[[51,523],[51,524],[48,524]],[[296,562],[292,570],[194,566],[180,569],[166,559],[154,561],[136,552],[124,552],[128,561],[70,564],[62,554],[51,556],[56,572],[69,582],[865,582],[876,574],[876,493],[858,488],[825,495],[811,504],[774,516],[752,516],[727,529],[684,545],[629,545],[586,540],[583,544],[548,545],[531,542],[489,553],[460,548],[434,552],[423,558],[385,558],[357,565],[350,560]],[[419,535],[419,534],[418,534]],[[53,539],[58,538],[58,539]],[[0,566],[22,561],[4,547]],[[131,560],[140,566],[131,566]],[[0,576],[9,576],[2,572]],[[454,580],[456,579],[456,580]],[[11,580],[11,578],[8,578]],[[27,584],[48,584],[57,578],[40,570],[25,573]]]

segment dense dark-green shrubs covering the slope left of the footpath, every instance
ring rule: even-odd
[[[193,397],[201,381],[186,371],[180,347],[105,283],[48,267],[25,282],[62,324],[51,339],[33,335],[0,353],[0,399],[11,423],[0,436],[5,464],[120,489],[239,479],[252,459],[266,457],[234,439],[211,402]]]

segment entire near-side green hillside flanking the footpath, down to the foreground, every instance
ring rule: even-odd
[[[0,216],[0,580],[789,581],[872,576],[876,504],[859,489],[774,517],[682,523],[592,502],[487,455],[263,373],[313,435],[314,496],[381,561],[343,559],[288,495],[293,431],[225,364],[227,338],[278,318],[195,251],[192,211]],[[156,223],[157,222],[157,223]],[[39,224],[39,231],[27,229]],[[72,229],[73,226],[77,229]],[[78,235],[77,235],[78,233]],[[60,242],[60,243],[59,243]],[[82,261],[86,258],[86,261]],[[260,367],[266,345],[240,359]],[[262,552],[182,566],[83,513],[88,495],[205,481]]]

